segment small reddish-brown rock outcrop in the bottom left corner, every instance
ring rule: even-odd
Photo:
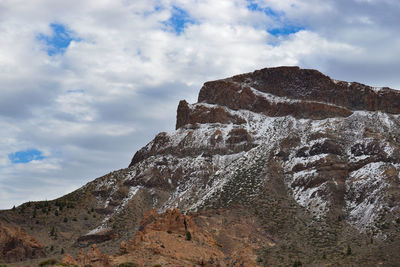
[[[6,262],[18,262],[46,255],[45,248],[22,229],[0,223],[0,253]]]

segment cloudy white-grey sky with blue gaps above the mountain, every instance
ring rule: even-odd
[[[398,0],[0,0],[0,209],[129,165],[202,84],[297,65],[400,89]]]

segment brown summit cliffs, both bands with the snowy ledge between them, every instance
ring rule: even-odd
[[[396,90],[336,81],[316,70],[298,67],[262,69],[207,82],[198,102],[272,117],[326,119],[348,117],[356,110],[400,113],[400,93]],[[180,103],[177,129],[205,122],[244,123],[229,117],[221,107],[189,109],[185,102]]]

